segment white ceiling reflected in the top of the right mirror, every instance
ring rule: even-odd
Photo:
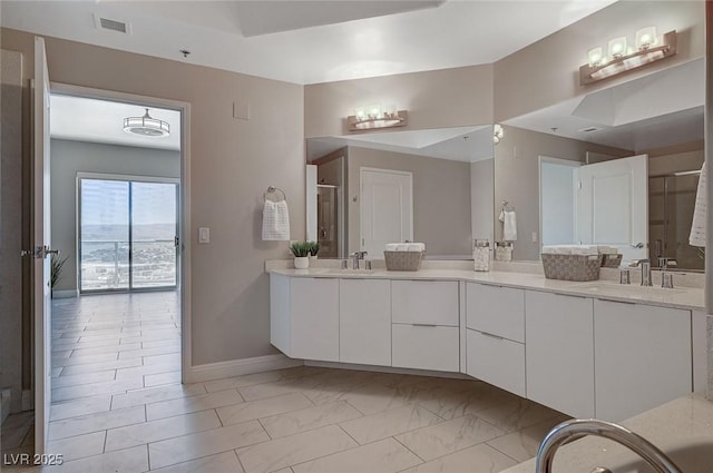
[[[702,140],[704,101],[699,59],[504,124],[639,152]]]

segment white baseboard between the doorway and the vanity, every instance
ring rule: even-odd
[[[283,354],[256,356],[254,358],[233,359],[229,362],[189,366],[184,374],[183,382],[202,383],[204,381],[223,380],[225,377],[291,368],[302,365],[304,365],[302,359],[292,359]]]

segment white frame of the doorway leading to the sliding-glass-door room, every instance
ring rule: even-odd
[[[50,93],[110,100],[149,108],[165,108],[180,112],[180,181],[178,184],[178,236],[180,244],[180,267],[177,284],[180,292],[180,380],[187,380],[192,365],[192,292],[191,292],[191,104],[158,97],[139,96],[113,90],[94,89],[69,83],[50,81]]]

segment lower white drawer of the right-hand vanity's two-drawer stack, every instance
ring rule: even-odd
[[[470,328],[466,332],[466,373],[525,396],[525,345]]]

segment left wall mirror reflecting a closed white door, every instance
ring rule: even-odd
[[[316,166],[307,234],[320,258],[383,259],[385,243],[410,240],[426,244],[427,258],[467,259],[475,238],[492,239],[491,125],[306,141]]]

